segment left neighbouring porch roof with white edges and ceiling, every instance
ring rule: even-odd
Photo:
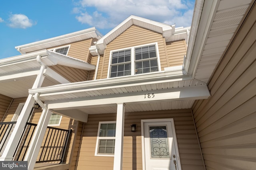
[[[41,56],[41,61],[46,66],[60,64],[83,70],[94,70],[96,67],[84,61],[48,51],[46,49],[6,59],[0,59],[0,94],[10,96],[12,98],[28,96],[28,89],[32,88],[40,70],[40,63],[38,63],[36,59],[38,55]],[[69,83],[68,80],[50,68],[46,68],[44,70],[44,75],[46,78],[42,86]]]

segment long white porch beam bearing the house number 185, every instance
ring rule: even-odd
[[[154,98],[144,98],[145,92],[132,92],[126,94],[48,101],[47,104],[48,109],[54,110],[60,108],[64,109],[79,108],[84,106],[111,105],[116,103],[138,104],[174,100],[199,100],[210,97],[210,92],[206,85],[152,90],[150,93],[154,93]]]

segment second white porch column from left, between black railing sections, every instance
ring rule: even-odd
[[[36,158],[38,156],[42,141],[44,139],[44,135],[46,132],[47,125],[49,123],[52,111],[43,110],[38,125],[36,126],[35,133],[31,139],[30,146],[28,148],[28,152],[25,156],[24,160],[28,161],[28,170],[33,170],[36,164]]]

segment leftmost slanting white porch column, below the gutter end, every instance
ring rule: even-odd
[[[4,151],[2,152],[2,156],[0,157],[0,161],[9,160],[11,161],[13,159],[13,154],[16,149],[16,146],[18,145],[18,142],[20,140],[20,136],[23,132],[23,129],[26,125],[26,122],[28,120],[28,117],[30,115],[30,111],[34,105],[34,98],[31,94],[28,95],[28,98],[24,104],[24,107],[22,111],[20,112],[20,115],[17,119],[17,123],[14,126],[14,129],[10,135],[10,138],[8,139],[8,142],[6,143],[6,147],[4,147]]]

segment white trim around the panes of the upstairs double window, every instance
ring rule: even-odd
[[[145,46],[150,46],[150,45],[155,45],[156,47],[156,59],[157,59],[157,64],[158,64],[158,71],[156,72],[160,72],[161,71],[161,63],[160,63],[160,55],[159,55],[159,49],[158,49],[158,42],[154,42],[154,43],[148,43],[148,44],[143,44],[143,45],[136,45],[136,46],[132,46],[132,47],[126,47],[126,48],[122,48],[122,49],[116,49],[116,50],[111,50],[110,51],[110,56],[109,56],[109,61],[108,61],[108,78],[110,78],[110,67],[111,67],[111,61],[112,61],[112,53],[116,52],[116,51],[124,51],[124,50],[131,50],[131,75],[132,76],[137,76],[137,75],[141,75],[141,74],[135,74],[135,55],[134,55],[134,50],[138,47],[145,47]],[[154,73],[156,73],[154,72]],[[152,74],[152,72],[148,72],[148,73],[142,73],[142,74]],[[131,75],[127,75],[127,76],[131,76]],[[124,76],[120,76],[120,77],[124,77]],[[116,77],[112,77],[112,78],[116,78]]]

